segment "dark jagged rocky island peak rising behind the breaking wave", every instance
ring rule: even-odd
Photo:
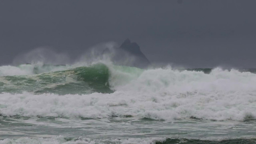
[[[146,68],[150,64],[148,58],[141,52],[140,46],[129,39],[126,39],[119,48],[113,50],[106,48],[102,53],[110,55],[112,61],[118,65]]]

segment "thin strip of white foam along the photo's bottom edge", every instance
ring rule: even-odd
[[[223,140],[235,140],[236,138],[170,138],[179,140],[179,143],[185,143],[189,140],[208,140],[216,143]],[[128,138],[128,139],[90,139],[90,138],[65,138],[64,136],[54,136],[51,138],[18,138],[18,139],[4,139],[0,140],[0,144],[155,144],[156,142],[165,142],[166,137],[158,138]],[[244,140],[255,140],[255,138],[248,137]],[[176,141],[177,142],[177,141]],[[195,142],[195,141],[194,141]],[[239,142],[239,140],[238,140]],[[241,141],[240,141],[241,142]],[[244,141],[242,141],[244,142]]]

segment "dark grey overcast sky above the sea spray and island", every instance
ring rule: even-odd
[[[256,68],[256,0],[1,0],[0,65],[129,38],[153,63]]]

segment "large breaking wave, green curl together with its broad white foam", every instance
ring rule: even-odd
[[[94,64],[0,77],[2,116],[256,119],[256,74]]]

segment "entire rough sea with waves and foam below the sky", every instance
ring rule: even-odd
[[[0,144],[254,144],[255,71],[0,66]]]

